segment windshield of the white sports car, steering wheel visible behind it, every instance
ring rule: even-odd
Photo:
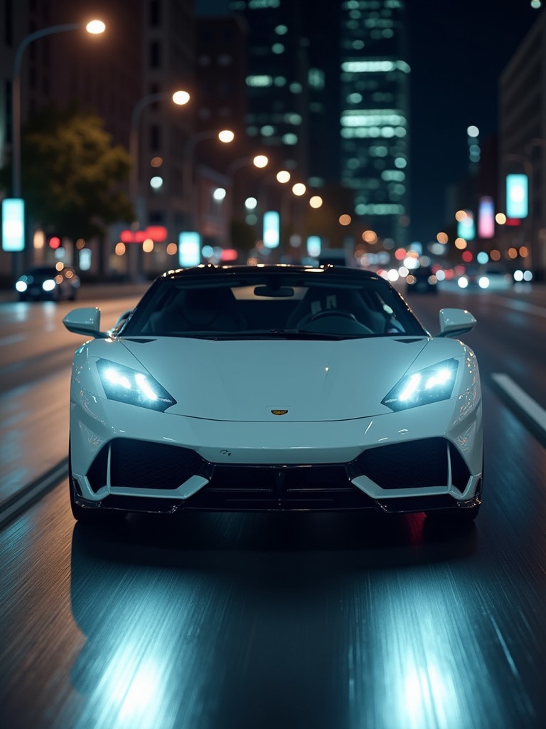
[[[159,278],[119,335],[202,338],[426,336],[395,289],[379,276],[317,269]]]

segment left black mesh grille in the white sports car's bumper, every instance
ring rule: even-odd
[[[106,483],[108,448],[113,488],[178,488],[205,465],[189,448],[118,438],[100,451],[87,473],[94,491]]]

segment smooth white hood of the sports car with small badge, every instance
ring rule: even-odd
[[[410,337],[118,343],[175,398],[168,413],[221,421],[271,421],[272,410],[287,410],[283,421],[389,413],[381,399],[417,357],[426,367],[462,354],[456,340]]]

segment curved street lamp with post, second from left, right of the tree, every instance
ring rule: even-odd
[[[133,208],[135,208],[135,223],[138,227],[141,226],[143,218],[145,217],[145,210],[143,204],[143,196],[141,195],[141,183],[140,183],[140,149],[139,149],[139,137],[138,128],[141,121],[141,114],[143,109],[149,104],[155,104],[157,101],[167,101],[172,99],[174,104],[183,106],[189,101],[189,93],[187,91],[178,90],[175,93],[170,91],[157,91],[157,93],[151,93],[143,96],[137,101],[131,114],[131,125],[129,130],[129,154],[132,159],[132,166],[129,177],[129,194]],[[138,256],[133,252],[135,246],[131,245],[129,251],[129,276],[131,281],[138,279]]]

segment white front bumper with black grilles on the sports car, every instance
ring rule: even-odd
[[[135,410],[73,402],[71,473],[80,505],[415,512],[479,502],[480,401],[335,423],[221,423]]]

